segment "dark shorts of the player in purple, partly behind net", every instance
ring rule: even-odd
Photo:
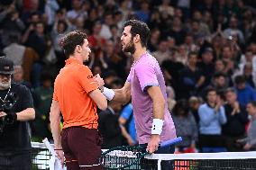
[[[146,149],[148,144],[142,144],[140,147]],[[159,148],[154,154],[173,154],[174,146]],[[157,170],[158,160],[142,159],[141,166],[143,170]],[[172,161],[161,161],[161,170],[172,170]]]

